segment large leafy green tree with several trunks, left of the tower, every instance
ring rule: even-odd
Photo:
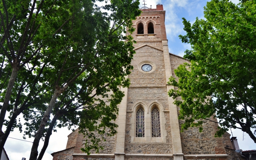
[[[1,1],[0,128],[7,129],[0,152],[13,128],[21,130],[16,120],[21,113],[32,119],[25,124],[25,134],[35,137],[31,160],[45,135],[42,158],[58,119],[58,127],[86,121],[81,132],[94,142],[87,153],[100,147],[92,130],[104,134],[108,127],[109,135],[116,133],[112,121],[124,96],[120,86],[129,85],[125,76],[135,53],[132,37],[124,34],[134,31],[132,20],[140,10],[137,0],[105,2],[98,7],[91,0]],[[11,115],[4,123],[6,111]]]

